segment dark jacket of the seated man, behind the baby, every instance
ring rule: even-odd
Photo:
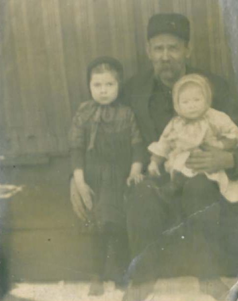
[[[213,90],[212,107],[216,110],[225,112],[238,124],[238,106],[232,100],[228,85],[223,78],[191,67],[187,67],[186,73],[199,73],[206,76],[210,80]],[[125,101],[127,104],[130,104],[136,116],[138,126],[145,142],[145,147],[147,147],[152,141],[156,141],[159,138],[149,111],[149,103],[154,89],[154,82],[154,72],[153,69],[151,69],[142,74],[133,76],[125,85],[124,90]],[[162,86],[163,84],[159,80],[159,87]],[[168,101],[168,97],[165,99],[163,89],[157,90],[157,99],[161,102],[161,104],[164,101]],[[172,102],[172,95],[170,101]],[[158,119],[161,119],[162,122],[166,120],[166,112],[164,110],[161,112],[158,110],[156,114]],[[164,128],[166,124],[161,124],[161,126]],[[238,178],[238,151],[234,154],[234,159],[236,166],[232,170],[228,171],[228,175],[231,179]]]

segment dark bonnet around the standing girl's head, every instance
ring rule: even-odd
[[[91,73],[92,69],[95,67],[102,65],[102,64],[108,64],[111,69],[115,70],[118,74],[119,78],[119,86],[121,88],[122,82],[123,82],[123,67],[122,64],[115,58],[110,56],[100,56],[96,59],[94,59],[87,67],[87,85],[88,88],[90,86],[90,79],[91,79]]]

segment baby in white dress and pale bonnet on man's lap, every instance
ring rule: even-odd
[[[149,173],[160,175],[159,166],[165,162],[165,170],[174,184],[171,187],[175,190],[182,188],[188,177],[197,174],[186,167],[192,151],[210,146],[232,152],[238,145],[238,127],[228,115],[212,109],[211,103],[212,89],[204,76],[183,76],[173,87],[177,116],[168,123],[159,141],[148,147],[152,154]],[[230,181],[224,170],[205,174],[217,182],[228,201],[238,201],[238,181]]]

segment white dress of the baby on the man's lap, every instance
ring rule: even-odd
[[[195,120],[174,116],[160,139],[152,142],[148,150],[153,155],[167,159],[165,169],[172,179],[174,171],[194,177],[197,173],[185,166],[191,151],[204,143],[223,149],[224,144],[220,140],[222,138],[237,139],[238,142],[238,127],[228,115],[210,108]],[[224,170],[205,174],[208,179],[217,182],[221,194],[228,201],[238,202],[238,181],[231,181]]]

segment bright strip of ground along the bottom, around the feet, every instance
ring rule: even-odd
[[[224,278],[229,286],[235,279]],[[89,283],[16,283],[4,301],[121,301],[123,292],[115,289],[113,282],[106,282],[105,293],[100,297],[88,296]],[[146,301],[214,301],[202,294],[198,281],[193,277],[159,279],[154,292]]]

